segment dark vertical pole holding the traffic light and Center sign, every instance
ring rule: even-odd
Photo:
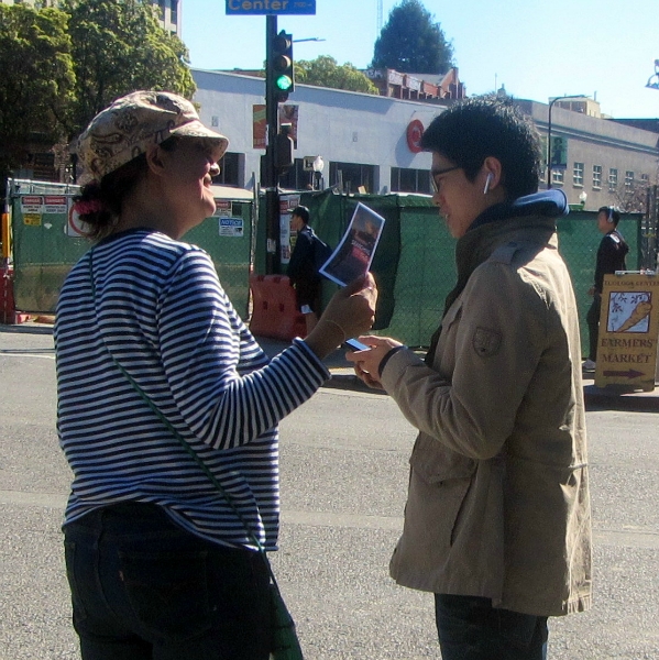
[[[275,142],[278,132],[278,103],[272,92],[274,77],[271,53],[277,36],[277,16],[265,18],[265,121],[267,124],[267,147],[265,150],[265,229],[266,254],[265,268],[268,275],[279,272],[282,239],[279,231],[279,193],[277,190],[277,170],[275,167]],[[273,252],[274,248],[274,252]]]

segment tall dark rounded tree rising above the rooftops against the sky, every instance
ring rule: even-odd
[[[403,0],[392,9],[375,42],[372,68],[437,75],[452,66],[453,46],[420,0]]]

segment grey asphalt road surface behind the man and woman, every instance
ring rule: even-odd
[[[55,433],[50,333],[0,328],[0,660],[77,658],[61,531],[69,471]],[[591,612],[551,619],[551,660],[659,659],[656,414],[587,414]],[[414,430],[382,395],[321,389],[282,424],[273,564],[307,660],[439,658],[432,598],[396,586]]]

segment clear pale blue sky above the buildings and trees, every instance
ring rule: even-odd
[[[596,98],[603,113],[658,118],[646,84],[659,58],[659,0],[422,0],[452,43],[468,95],[498,89],[548,102]],[[383,0],[383,22],[399,0]],[[277,18],[296,59],[331,55],[367,68],[380,34],[378,0],[316,0],[316,15]],[[262,68],[265,16],[226,15],[226,0],[182,0],[182,37],[194,68]],[[292,100],[293,97],[292,97]]]

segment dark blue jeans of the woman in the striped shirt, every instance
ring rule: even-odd
[[[157,506],[97,509],[64,528],[83,660],[267,660],[270,578]]]

